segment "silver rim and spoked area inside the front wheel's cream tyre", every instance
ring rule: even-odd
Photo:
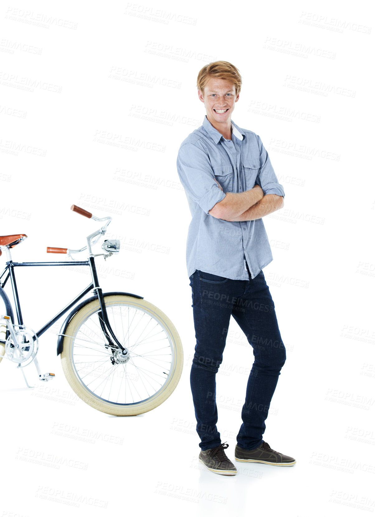
[[[127,302],[106,302],[118,341],[128,349],[124,360],[108,347],[99,324],[99,307],[79,324],[71,339],[74,374],[92,395],[118,405],[140,405],[159,396],[175,368],[175,345],[168,326],[151,310]],[[107,347],[106,347],[107,344]]]

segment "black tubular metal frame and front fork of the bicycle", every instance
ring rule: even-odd
[[[104,333],[104,336],[106,336],[108,344],[112,348],[118,347],[118,348],[121,348],[122,351],[124,351],[125,348],[117,340],[117,338],[112,330],[112,327],[110,325],[109,319],[108,319],[108,314],[107,314],[106,305],[104,303],[103,293],[102,293],[101,287],[99,287],[99,281],[98,281],[98,276],[97,276],[97,272],[96,272],[94,257],[89,257],[87,261],[77,261],[77,262],[13,262],[13,261],[7,262],[4,271],[0,275],[0,279],[4,276],[6,271],[8,271],[8,275],[6,276],[4,282],[0,282],[0,287],[4,287],[7,280],[10,278],[10,282],[12,284],[14,304],[16,306],[17,323],[19,325],[23,325],[21,305],[20,305],[20,299],[18,296],[16,276],[14,275],[14,268],[15,267],[31,267],[31,266],[71,266],[72,264],[76,264],[79,266],[89,266],[89,268],[91,270],[93,282],[90,285],[88,285],[82,291],[82,293],[80,293],[78,296],[76,296],[76,298],[74,298],[66,307],[64,307],[63,310],[58,312],[56,314],[56,316],[54,316],[48,323],[46,323],[46,325],[44,325],[40,330],[38,330],[38,332],[36,332],[36,336],[39,338],[39,336],[41,336],[44,332],[46,332],[46,330],[48,330],[61,316],[63,316],[63,314],[68,312],[68,310],[71,309],[89,291],[94,290],[94,294],[99,299],[100,312],[98,313],[98,317],[99,317],[100,327]],[[114,341],[115,344],[113,343],[112,340]]]

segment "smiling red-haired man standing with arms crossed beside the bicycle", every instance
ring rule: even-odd
[[[215,382],[231,316],[254,355],[235,460],[295,464],[263,440],[286,349],[262,271],[273,260],[262,217],[283,206],[284,190],[259,136],[231,120],[241,84],[237,68],[226,61],[200,70],[198,97],[206,116],[177,157],[192,216],[186,259],[197,338],[190,386],[201,439],[199,461],[211,472],[232,476],[237,470],[224,452],[229,444],[221,444],[216,427]]]

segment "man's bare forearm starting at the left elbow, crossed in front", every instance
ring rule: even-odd
[[[222,189],[221,189],[222,190]],[[235,220],[232,218],[240,217],[248,208],[256,204],[263,197],[263,190],[256,185],[245,192],[227,192],[222,201],[209,210],[208,214],[217,219]]]

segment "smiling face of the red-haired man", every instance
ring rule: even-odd
[[[226,79],[211,77],[205,84],[204,93],[198,90],[198,97],[204,102],[207,118],[211,124],[230,124],[234,103],[239,99],[234,84]],[[215,122],[214,122],[215,121]]]

